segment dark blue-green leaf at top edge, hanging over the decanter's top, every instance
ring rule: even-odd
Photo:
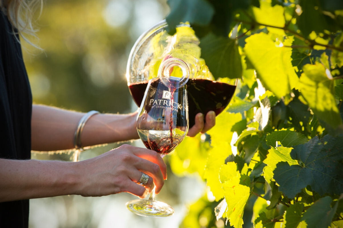
[[[166,17],[168,32],[174,34],[181,22],[195,25],[208,25],[214,14],[213,6],[205,0],[168,0],[170,13]]]

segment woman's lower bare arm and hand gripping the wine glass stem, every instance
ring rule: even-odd
[[[145,187],[136,184],[148,174]],[[61,195],[106,196],[129,192],[144,198],[158,193],[166,165],[152,150],[120,146],[80,162],[0,159],[0,202]]]

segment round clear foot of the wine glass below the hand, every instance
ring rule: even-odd
[[[173,207],[153,200],[131,200],[126,207],[133,213],[145,217],[167,217],[174,214]]]

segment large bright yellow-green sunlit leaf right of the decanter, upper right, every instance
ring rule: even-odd
[[[263,32],[248,37],[246,42],[244,51],[263,86],[279,98],[288,94],[298,80],[291,63],[292,49],[277,46]]]

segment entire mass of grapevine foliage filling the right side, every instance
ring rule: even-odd
[[[343,1],[167,3],[168,32],[188,22],[214,78],[240,79],[170,156],[209,187],[182,226],[343,227]]]

